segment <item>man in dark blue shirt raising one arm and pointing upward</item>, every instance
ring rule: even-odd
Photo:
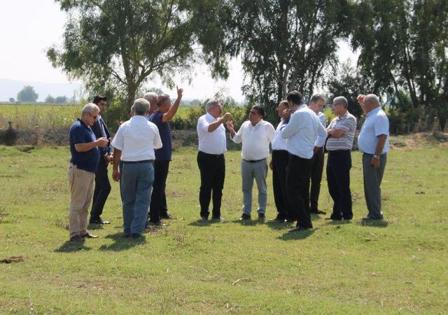
[[[177,99],[173,106],[169,95],[161,94],[158,97],[157,109],[149,116],[148,120],[154,123],[162,139],[162,148],[155,151],[154,162],[154,183],[153,193],[151,194],[151,205],[149,208],[149,222],[151,225],[164,225],[160,218],[172,218],[168,214],[167,197],[165,195],[165,186],[167,183],[169,161],[171,161],[172,139],[169,120],[176,115],[179,104],[182,99],[182,89],[176,87]]]

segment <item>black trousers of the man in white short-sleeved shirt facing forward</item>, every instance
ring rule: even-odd
[[[221,216],[221,199],[223,197],[225,179],[224,155],[207,154],[199,151],[197,153],[197,166],[201,173],[201,187],[199,192],[199,202],[201,205],[200,215],[209,216],[209,204],[213,191],[213,209],[211,215],[218,218]]]

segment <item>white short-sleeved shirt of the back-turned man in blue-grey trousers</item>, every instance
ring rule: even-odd
[[[155,160],[154,149],[162,148],[158,127],[145,116],[134,116],[121,124],[111,146],[122,151],[127,162]]]

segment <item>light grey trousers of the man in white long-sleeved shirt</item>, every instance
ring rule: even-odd
[[[258,214],[264,214],[267,203],[267,162],[246,162],[241,160],[241,178],[243,180],[243,212],[251,215],[252,211],[252,188],[253,179],[257,182],[258,188]]]

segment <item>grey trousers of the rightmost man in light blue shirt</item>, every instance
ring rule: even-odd
[[[381,180],[383,179],[384,168],[386,167],[386,153],[379,156],[379,167],[375,169],[370,165],[373,154],[363,154],[363,175],[364,175],[364,195],[365,203],[369,214],[367,218],[381,219]]]

